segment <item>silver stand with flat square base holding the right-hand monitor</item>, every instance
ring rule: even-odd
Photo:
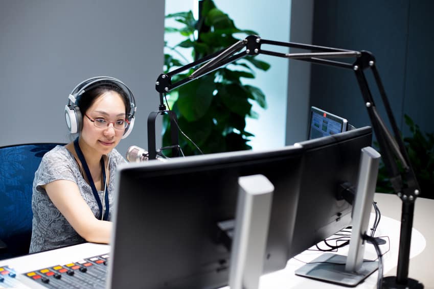
[[[365,244],[363,236],[368,230],[380,157],[381,155],[371,147],[361,149],[348,256],[323,254],[296,270],[296,275],[345,286],[356,286],[378,269],[378,261],[363,259]]]

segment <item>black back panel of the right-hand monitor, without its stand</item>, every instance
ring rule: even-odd
[[[303,164],[289,257],[351,224],[352,205],[337,196],[343,190],[341,184],[357,186],[360,152],[371,146],[372,129],[363,127],[299,144]]]

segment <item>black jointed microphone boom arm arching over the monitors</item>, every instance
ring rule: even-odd
[[[262,44],[291,47],[294,49],[308,50],[310,52],[285,54],[264,50],[261,48]],[[245,50],[240,52],[240,50],[242,50],[243,48],[245,48]],[[159,92],[160,95],[159,111],[166,111],[166,107],[163,103],[163,95],[165,93],[170,92],[175,88],[178,88],[197,78],[200,78],[210,73],[211,71],[214,71],[238,59],[246,56],[256,56],[259,54],[307,61],[327,66],[341,67],[350,69],[354,72],[360,92],[363,97],[364,104],[366,105],[366,108],[368,110],[372,127],[379,143],[384,165],[390,175],[392,187],[395,191],[395,194],[402,200],[397,276],[384,278],[383,286],[399,287],[402,285],[407,285],[409,287],[412,287],[413,284],[419,284],[417,280],[408,278],[408,262],[413,228],[414,207],[416,198],[420,194],[420,189],[412,165],[410,164],[407,152],[405,150],[404,143],[401,139],[399,129],[396,125],[391,106],[389,104],[389,101],[387,100],[383,84],[381,82],[377,67],[375,65],[375,58],[370,52],[343,50],[332,47],[316,46],[294,42],[272,41],[262,39],[257,35],[249,35],[245,39],[239,40],[233,45],[215,54],[209,55],[185,66],[179,67],[175,70],[170,71],[167,74],[159,75],[155,83],[155,89]],[[353,59],[353,62],[350,63],[340,61],[342,59]],[[189,75],[185,79],[181,79],[176,83],[171,82],[172,76],[201,64],[203,65],[197,68],[191,75]],[[381,100],[386,110],[387,117],[393,130],[393,134],[387,129],[382,118],[377,112],[377,108],[375,106],[371,90],[364,73],[364,71],[368,69],[372,71],[372,74],[374,76],[375,84],[381,95]],[[175,130],[172,130],[172,132],[173,131]],[[153,133],[154,132],[155,129],[153,129]],[[153,138],[155,140],[155,134],[153,135]],[[153,154],[151,153],[154,148],[155,142],[153,143],[153,146],[148,146],[150,158],[154,158],[152,156],[155,155],[155,152]],[[398,162],[403,168],[403,173],[399,171]]]

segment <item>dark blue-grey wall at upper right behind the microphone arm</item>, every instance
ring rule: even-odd
[[[430,109],[434,108],[430,98],[432,77],[428,71],[433,61],[423,56],[434,48],[430,31],[433,5],[428,0],[314,3],[312,43],[372,52],[400,129],[405,128],[403,114],[407,113],[425,131],[434,131],[427,121]],[[367,76],[375,103],[385,119],[369,71]],[[344,116],[357,127],[370,124],[351,70],[313,65],[310,104]]]

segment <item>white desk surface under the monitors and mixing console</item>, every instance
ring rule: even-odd
[[[376,236],[387,235],[391,240],[391,249],[386,253],[384,259],[384,274],[386,276],[396,274],[396,264],[398,258],[398,243],[401,216],[401,200],[395,195],[375,194],[375,201],[378,203],[382,218],[378,226]],[[373,216],[373,215],[372,215]],[[372,217],[371,216],[371,217]],[[434,288],[434,233],[432,224],[434,220],[434,200],[418,199],[416,201],[414,229],[412,235],[412,246],[410,250],[409,277],[419,280],[425,285],[425,288]],[[370,226],[372,224],[372,218]],[[389,245],[380,246],[384,252]],[[76,262],[83,258],[102,255],[109,253],[109,245],[86,243],[67,248],[61,248],[43,253],[31,254],[23,257],[12,258],[0,261],[0,267],[9,265],[13,267],[18,274],[38,270],[46,267],[55,266],[56,264],[66,264]],[[346,255],[347,248],[342,248],[338,254]],[[305,251],[297,259],[309,262],[321,253]],[[376,253],[372,245],[366,248],[366,259],[375,259]],[[294,275],[294,271],[304,263],[296,259],[288,261],[285,269],[263,275],[260,279],[261,289],[270,288],[336,288],[341,287],[333,284],[323,283]],[[27,277],[17,276],[17,280]],[[374,272],[357,288],[375,288],[377,282],[377,272]],[[27,284],[29,284],[27,282]],[[1,284],[0,284],[1,287]],[[29,288],[28,286],[18,286],[20,288]],[[32,286],[34,288],[34,286]],[[224,287],[225,289],[229,287]],[[342,287],[344,288],[344,287]]]

